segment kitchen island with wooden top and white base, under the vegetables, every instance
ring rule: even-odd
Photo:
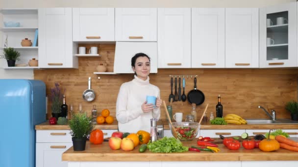
[[[183,146],[197,146],[196,141],[183,142]],[[298,152],[280,148],[273,152],[263,152],[258,148],[247,150],[229,150],[219,144],[221,151],[218,153],[186,151],[182,153],[152,153],[147,149],[139,153],[138,147],[132,151],[112,150],[108,142],[93,145],[87,142],[84,151],[74,151],[69,148],[62,154],[62,160],[68,161],[68,167],[99,167],[101,165],[116,166],[181,166],[183,163],[190,165],[228,165],[229,167],[246,167],[261,164],[280,166],[284,163],[287,167],[298,166]],[[133,163],[132,163],[133,162]]]

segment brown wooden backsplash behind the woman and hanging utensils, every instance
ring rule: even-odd
[[[43,69],[34,70],[34,79],[42,80],[47,86],[47,95],[54,83],[59,83],[66,89],[66,102],[74,105],[75,112],[81,103],[83,110],[91,115],[95,104],[99,113],[102,109],[109,109],[116,117],[116,100],[122,83],[133,79],[133,74],[96,75],[99,63],[108,61],[108,72],[113,71],[115,44],[80,44],[79,46],[98,46],[100,58],[79,58],[78,69]],[[128,64],[129,65],[129,64]],[[171,78],[169,75],[199,75],[198,89],[205,95],[205,102],[197,106],[198,117],[201,116],[206,104],[209,103],[207,115],[215,114],[217,96],[221,94],[224,115],[239,114],[243,118],[268,118],[257,106],[275,109],[276,117],[290,118],[285,104],[290,100],[297,100],[298,69],[158,69],[157,74],[150,74],[150,83],[158,86],[161,98],[169,104],[171,93]],[[88,77],[92,77],[91,88],[96,92],[93,102],[85,102],[82,93],[88,88]],[[100,77],[100,79],[98,79]],[[182,82],[181,82],[182,85]],[[186,79],[185,94],[194,88],[194,80]],[[182,111],[185,118],[190,114],[191,104],[174,102],[173,113]],[[51,117],[50,102],[48,103],[48,118]],[[161,119],[165,119],[165,111],[161,108]]]

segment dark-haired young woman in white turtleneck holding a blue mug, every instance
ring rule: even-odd
[[[160,117],[159,88],[149,83],[150,58],[137,53],[131,58],[134,79],[121,85],[117,103],[116,118],[118,129],[122,132],[136,133],[138,130],[150,132],[150,119]],[[146,96],[155,96],[155,106],[147,104]]]

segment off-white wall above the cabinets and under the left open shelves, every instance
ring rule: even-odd
[[[296,0],[0,0],[0,8],[37,7],[265,7]],[[0,22],[2,16],[0,16]],[[0,26],[2,26],[0,24]],[[0,46],[3,36],[0,32]],[[2,51],[0,51],[2,54]],[[0,59],[0,67],[6,61]],[[33,79],[33,70],[0,69],[0,79]]]

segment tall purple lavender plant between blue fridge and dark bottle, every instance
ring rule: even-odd
[[[55,83],[55,87],[50,89],[50,102],[52,117],[55,117],[57,120],[60,117],[62,101],[63,95],[61,93],[61,89],[59,84]]]

